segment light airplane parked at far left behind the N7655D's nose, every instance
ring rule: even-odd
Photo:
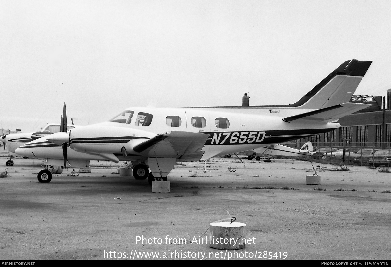
[[[70,130],[70,129],[73,129],[74,127],[75,127],[74,125],[68,125],[67,129]],[[54,124],[48,124],[44,128],[42,127],[41,131],[32,132],[32,133],[14,133],[14,134],[4,134],[3,133],[3,136],[1,138],[2,138],[2,142],[3,142],[4,150],[5,150],[5,147],[7,147],[7,150],[10,155],[10,159],[5,162],[5,165],[6,166],[13,166],[14,165],[13,158],[18,156],[15,153],[15,149],[17,149],[21,145],[25,145],[25,144],[31,142],[32,140],[36,140],[36,139],[41,138],[43,136],[46,136],[48,134],[58,133],[59,131],[60,131],[60,124],[54,123]],[[34,157],[34,155],[32,155],[30,157]],[[36,157],[34,157],[34,158],[36,158]]]

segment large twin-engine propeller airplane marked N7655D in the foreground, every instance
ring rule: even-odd
[[[70,167],[88,166],[90,160],[131,161],[136,179],[164,180],[176,162],[267,147],[340,127],[339,118],[370,106],[349,100],[371,62],[345,61],[294,104],[128,108],[107,122],[69,131],[62,127],[16,153]],[[65,103],[61,122],[66,125]],[[57,147],[57,152],[48,147]],[[48,170],[38,174],[40,182],[51,179]]]

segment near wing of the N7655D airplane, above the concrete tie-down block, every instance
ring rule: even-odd
[[[198,161],[204,154],[201,149],[209,134],[171,131],[159,134],[138,145],[133,150],[150,158],[177,158]]]

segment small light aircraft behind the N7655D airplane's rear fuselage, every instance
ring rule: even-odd
[[[260,147],[257,149],[251,149],[252,155],[248,156],[248,159],[260,160],[261,156],[293,156],[293,157],[308,157],[315,154],[314,147],[311,142],[306,142],[300,149],[292,147],[286,147],[285,145],[269,145],[268,147]]]

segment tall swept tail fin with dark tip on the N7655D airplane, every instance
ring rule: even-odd
[[[349,102],[372,61],[345,61],[291,107],[324,109]]]

